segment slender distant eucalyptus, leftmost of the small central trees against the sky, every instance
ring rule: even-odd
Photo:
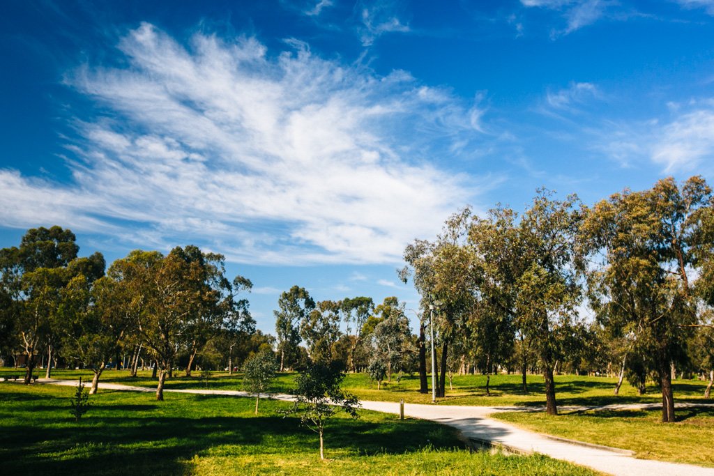
[[[276,318],[275,330],[278,336],[281,372],[300,343],[299,324],[314,308],[315,301],[310,297],[310,293],[297,285],[281,293],[278,298],[278,310],[274,310],[273,314]]]

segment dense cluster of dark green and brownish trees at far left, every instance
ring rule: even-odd
[[[226,278],[223,256],[196,246],[168,255],[134,250],[105,273],[104,257],[78,258],[71,231],[29,230],[19,247],[0,250],[0,351],[26,368],[60,362],[94,370],[90,393],[105,368],[139,362],[154,368],[163,399],[167,375],[243,360],[271,338],[256,332],[241,276]],[[127,359],[129,356],[129,359]]]

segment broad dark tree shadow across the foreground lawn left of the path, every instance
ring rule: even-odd
[[[36,395],[23,397],[36,400]],[[241,416],[202,416],[225,398],[201,395],[178,407],[96,402],[79,422],[69,417],[66,402],[15,402],[14,419],[1,425],[0,474],[175,475],[186,472],[186,460],[211,448],[290,454],[316,446],[316,435],[293,417],[243,416],[248,414],[244,408]],[[333,418],[326,428],[326,448],[373,455],[456,444],[455,433],[446,427],[421,420],[370,421],[373,418]]]

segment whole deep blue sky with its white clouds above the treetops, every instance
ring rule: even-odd
[[[0,246],[196,244],[278,294],[389,295],[470,204],[714,173],[714,1],[5,1]]]

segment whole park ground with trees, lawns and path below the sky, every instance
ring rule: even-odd
[[[538,191],[518,220],[463,209],[404,252],[418,335],[396,297],[298,285],[262,333],[222,255],[134,250],[105,272],[33,228],[0,250],[2,465],[709,474],[711,203],[695,176],[591,208]]]

